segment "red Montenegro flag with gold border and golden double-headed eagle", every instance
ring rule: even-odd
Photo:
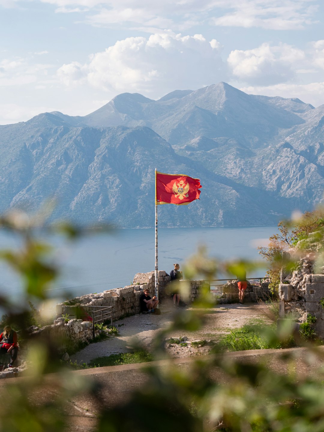
[[[199,200],[200,180],[182,174],[155,172],[155,203],[186,205]]]

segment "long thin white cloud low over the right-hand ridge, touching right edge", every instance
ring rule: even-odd
[[[252,95],[281,96],[283,98],[299,98],[315,107],[324,104],[324,82],[308,84],[281,83],[275,86],[247,86],[240,90]]]

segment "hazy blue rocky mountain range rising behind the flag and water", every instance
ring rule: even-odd
[[[160,226],[274,225],[323,200],[324,105],[219,83],[159,100],[123,93],[84,117],[0,126],[0,211],[55,197],[54,219],[154,225],[154,170],[200,178]]]

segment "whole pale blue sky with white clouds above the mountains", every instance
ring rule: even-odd
[[[0,0],[0,124],[225,81],[324,104],[320,0]]]

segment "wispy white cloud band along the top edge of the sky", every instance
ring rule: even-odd
[[[85,21],[91,25],[135,23],[141,25],[142,29],[172,28],[182,31],[206,23],[207,20],[217,26],[302,29],[314,22],[312,20],[319,0],[41,1],[57,5],[57,13],[89,11]]]

